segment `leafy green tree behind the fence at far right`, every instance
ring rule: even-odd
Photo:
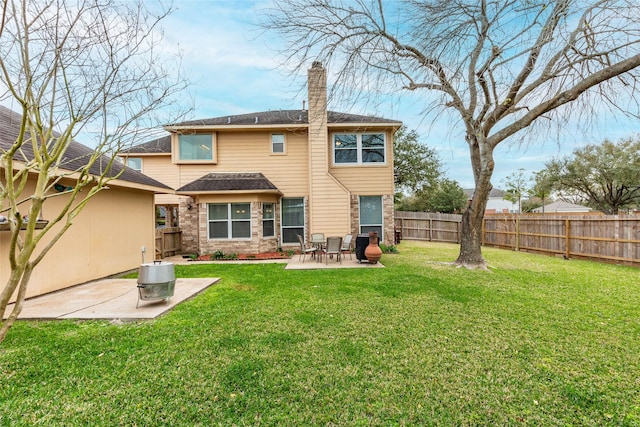
[[[561,197],[587,201],[606,214],[640,205],[640,139],[617,144],[605,140],[573,151],[571,156],[545,165],[548,179]]]

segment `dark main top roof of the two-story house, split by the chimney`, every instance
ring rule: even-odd
[[[239,114],[235,116],[222,116],[210,119],[190,120],[180,123],[165,125],[165,128],[195,128],[195,127],[233,127],[233,126],[265,126],[265,125],[306,125],[309,123],[308,110],[274,110],[258,113]],[[358,114],[339,113],[327,111],[327,124],[377,124],[400,126],[397,120],[383,119],[374,116],[361,116]]]

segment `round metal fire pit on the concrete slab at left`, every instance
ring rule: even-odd
[[[173,263],[154,261],[140,265],[138,269],[138,303],[140,301],[158,301],[173,296],[176,273]]]

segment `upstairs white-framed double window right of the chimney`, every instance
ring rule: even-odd
[[[386,161],[384,133],[336,133],[333,135],[334,164],[369,164]]]

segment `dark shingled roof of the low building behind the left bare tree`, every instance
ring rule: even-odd
[[[20,114],[13,112],[6,107],[0,106],[0,152],[8,150],[17,140],[20,133],[21,121],[22,116]],[[82,145],[79,142],[71,141],[64,154],[60,167],[68,171],[79,170],[86,165],[85,162],[93,153],[94,151],[91,148]],[[21,147],[21,151],[13,156],[13,159],[19,162],[33,159],[33,147],[31,144],[24,144]],[[101,175],[103,170],[109,165],[109,162],[110,159],[107,156],[102,156],[100,160],[91,167],[89,172],[93,175]],[[171,188],[165,184],[136,170],[127,168],[117,161],[112,163],[108,175],[109,177],[114,177],[120,172],[122,172],[122,174],[117,178],[120,181],[171,190]]]

